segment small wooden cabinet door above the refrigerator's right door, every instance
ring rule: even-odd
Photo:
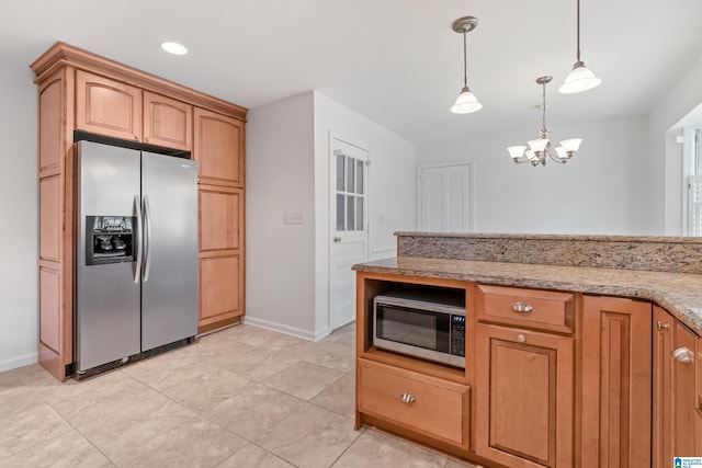
[[[148,91],[144,92],[144,141],[191,151],[193,106]]]

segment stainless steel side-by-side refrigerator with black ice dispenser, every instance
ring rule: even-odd
[[[197,162],[77,146],[80,375],[197,333]]]

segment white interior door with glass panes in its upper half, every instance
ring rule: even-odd
[[[355,319],[356,263],[369,259],[366,150],[330,138],[329,327]]]

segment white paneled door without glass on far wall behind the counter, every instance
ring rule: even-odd
[[[473,230],[473,171],[469,162],[421,165],[419,185],[421,230]]]

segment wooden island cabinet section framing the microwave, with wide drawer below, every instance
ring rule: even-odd
[[[463,368],[387,352],[373,344],[373,298],[400,285],[462,290],[460,282],[359,274],[356,283],[356,429],[400,432],[463,455],[469,447],[471,387]]]

